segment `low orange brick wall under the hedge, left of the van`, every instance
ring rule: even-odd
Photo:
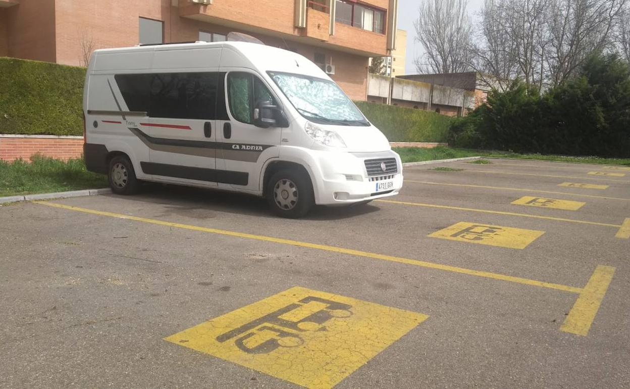
[[[10,162],[18,158],[28,161],[33,154],[69,160],[81,158],[82,153],[82,136],[0,135],[0,160],[3,161]]]

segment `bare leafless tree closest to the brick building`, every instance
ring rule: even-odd
[[[424,0],[413,23],[424,48],[415,59],[418,73],[458,73],[470,69],[472,26],[467,0]]]

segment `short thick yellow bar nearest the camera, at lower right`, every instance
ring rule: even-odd
[[[569,315],[564,319],[560,327],[561,331],[582,336],[588,335],[588,330],[597,315],[614,273],[614,267],[597,266],[587,285],[580,292],[580,297],[569,311]]]

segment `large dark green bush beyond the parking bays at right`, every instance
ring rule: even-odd
[[[630,156],[630,68],[593,55],[581,75],[539,93],[519,81],[456,120],[449,143],[518,153]]]

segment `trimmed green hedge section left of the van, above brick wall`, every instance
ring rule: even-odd
[[[0,57],[0,134],[83,135],[83,67]]]

